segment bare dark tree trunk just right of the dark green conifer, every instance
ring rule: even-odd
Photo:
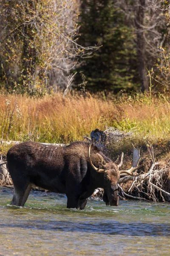
[[[137,46],[137,56],[139,62],[139,77],[141,90],[148,90],[148,81],[147,81],[147,71],[145,64],[145,40],[144,40],[144,7],[145,0],[138,0],[138,4],[136,6],[136,17],[135,17],[135,26],[136,26],[136,46]]]

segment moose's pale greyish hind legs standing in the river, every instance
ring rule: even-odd
[[[13,195],[11,204],[16,206],[24,206],[24,204],[27,201],[30,190],[31,190],[30,184],[28,184],[26,189],[17,188],[16,186],[14,186],[14,195]]]

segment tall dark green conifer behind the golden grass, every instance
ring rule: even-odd
[[[79,44],[100,46],[93,56],[86,58],[77,69],[87,79],[91,91],[136,87],[136,49],[132,29],[125,24],[125,15],[113,0],[82,1]],[[81,77],[77,77],[81,83]]]

